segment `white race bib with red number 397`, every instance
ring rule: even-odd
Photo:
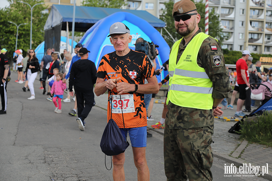
[[[113,95],[112,96],[112,113],[134,113],[134,99],[133,94]]]

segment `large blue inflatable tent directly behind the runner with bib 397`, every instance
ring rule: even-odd
[[[98,68],[102,56],[115,51],[108,37],[110,26],[115,22],[122,22],[130,29],[132,36],[132,41],[128,44],[130,49],[135,49],[134,44],[139,37],[159,45],[159,48],[157,48],[159,56],[156,58],[156,69],[160,68],[169,59],[170,47],[153,26],[134,14],[116,12],[99,20],[86,31],[79,41],[79,43],[83,44],[83,47],[90,51],[89,60],[95,62],[96,68]],[[167,75],[167,71],[163,71],[160,76],[157,76],[158,81],[160,82],[165,75]]]

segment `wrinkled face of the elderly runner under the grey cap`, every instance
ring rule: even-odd
[[[132,40],[132,37],[130,34],[113,34],[110,37],[110,41],[116,51],[124,51],[128,48],[128,43],[130,43]]]

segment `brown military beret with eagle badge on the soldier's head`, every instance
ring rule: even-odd
[[[196,10],[196,5],[193,1],[181,0],[174,4],[172,15],[174,16],[175,14],[186,14],[195,10]]]

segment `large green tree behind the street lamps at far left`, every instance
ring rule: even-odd
[[[27,49],[30,48],[30,19],[31,9],[28,5],[17,1],[8,0],[10,6],[0,9],[0,40],[2,48],[8,50],[8,57],[12,56],[11,52],[15,51],[17,27],[14,24],[8,23],[12,21],[17,25],[21,25],[18,30],[17,49],[23,50],[23,55],[26,55]],[[23,0],[31,6],[44,2],[44,0]],[[44,41],[44,24],[48,14],[43,14],[44,5],[37,5],[32,11],[32,48],[35,49],[42,41]]]

